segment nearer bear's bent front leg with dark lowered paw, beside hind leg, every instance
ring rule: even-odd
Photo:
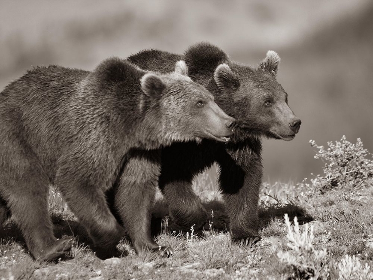
[[[104,195],[110,172],[88,166],[89,162],[71,162],[71,157],[66,164],[61,162],[55,185],[93,240],[96,256],[119,257],[116,245],[124,230],[109,210]]]

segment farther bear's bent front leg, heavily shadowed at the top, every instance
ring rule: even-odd
[[[218,153],[213,141],[174,143],[162,149],[159,187],[169,207],[170,230],[200,230],[208,215],[192,188],[193,178],[211,166]]]

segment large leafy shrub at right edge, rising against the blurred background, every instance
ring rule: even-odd
[[[360,188],[372,183],[372,154],[363,147],[360,138],[353,144],[343,136],[341,141],[327,142],[327,149],[318,146],[314,140],[310,140],[309,143],[318,149],[314,157],[325,163],[324,176],[317,175],[311,179],[315,187],[320,190],[345,186]]]

